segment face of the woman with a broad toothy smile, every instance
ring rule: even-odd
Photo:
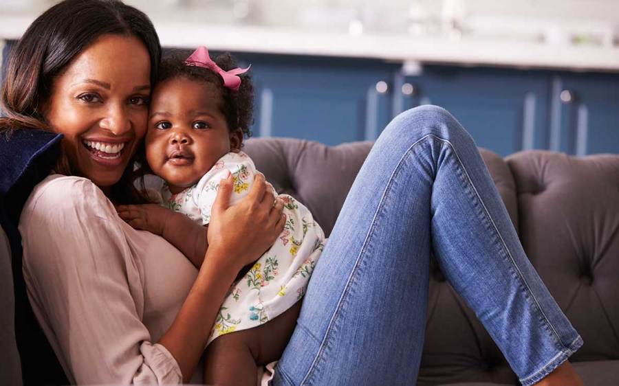
[[[118,182],[148,121],[150,57],[135,36],[104,35],[52,85],[44,115],[72,168],[100,188]]]

